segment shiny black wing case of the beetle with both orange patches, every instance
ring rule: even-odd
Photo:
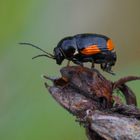
[[[77,45],[80,53],[84,55],[94,55],[114,49],[114,44],[111,39],[99,35],[79,37],[77,39]]]

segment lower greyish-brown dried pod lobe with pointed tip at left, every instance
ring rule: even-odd
[[[50,79],[46,76],[45,78]],[[73,115],[78,118],[84,118],[87,110],[98,110],[101,108],[97,101],[78,93],[77,90],[73,89],[69,84],[65,83],[65,81],[62,82],[63,86],[60,86],[60,83],[57,84],[60,81],[62,82],[62,78],[52,80],[53,86],[49,86],[47,83],[45,83],[45,86],[52,97]]]

